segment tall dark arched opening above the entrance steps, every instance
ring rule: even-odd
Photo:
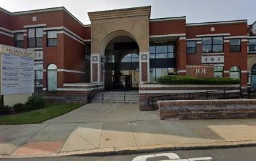
[[[104,85],[108,90],[139,87],[139,46],[133,38],[117,36],[104,51]]]

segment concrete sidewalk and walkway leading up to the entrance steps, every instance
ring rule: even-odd
[[[33,125],[1,125],[1,157],[256,143],[256,119],[168,120],[138,105],[91,103]]]

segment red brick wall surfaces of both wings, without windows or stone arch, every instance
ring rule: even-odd
[[[36,19],[34,19],[36,18]],[[44,69],[43,86],[46,88],[46,69],[53,63],[58,68],[58,87],[64,83],[83,83],[90,80],[91,74],[86,72],[85,50],[92,34],[90,25],[83,25],[64,7],[22,11],[10,13],[0,8],[0,44],[14,46],[14,34],[24,33],[24,48],[28,48],[28,26],[41,26],[44,29],[42,64]],[[202,38],[207,36],[223,36],[223,52],[208,53],[207,56],[224,56],[224,76],[230,76],[232,66],[241,69],[242,85],[247,85],[247,34],[251,35],[251,25],[246,20],[224,21],[212,23],[186,24],[186,17],[170,17],[150,19],[150,42],[154,38],[159,41],[176,42],[177,74],[186,75],[187,65],[202,65],[205,54],[202,53]],[[47,46],[47,31],[57,30],[57,46]],[[147,30],[147,29],[146,29]],[[230,40],[241,38],[241,52],[230,52]],[[187,54],[186,42],[196,41],[196,53]],[[90,42],[91,43],[91,42]],[[89,43],[89,44],[90,44]],[[36,50],[36,49],[34,49]],[[141,82],[148,80],[148,62],[141,62]],[[214,64],[216,64],[214,62]],[[218,63],[217,63],[218,64]],[[100,68],[103,69],[103,65]],[[89,69],[90,70],[90,69]],[[104,73],[98,78],[98,64],[92,64],[92,80],[104,80]],[[106,78],[105,78],[106,79]]]

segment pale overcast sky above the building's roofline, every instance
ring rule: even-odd
[[[151,18],[187,16],[187,23],[248,19],[256,21],[256,0],[0,0],[8,11],[64,6],[79,21],[90,23],[88,11],[151,5]]]

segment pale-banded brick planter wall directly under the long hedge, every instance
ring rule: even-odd
[[[227,96],[239,96],[240,85],[139,85],[139,109],[141,111],[153,110],[152,105],[150,105],[149,98],[154,96],[163,96],[162,99],[166,99],[166,97],[164,97],[165,95],[175,95],[172,99],[185,99],[183,98],[185,97],[185,93],[201,93],[224,89],[236,90],[233,93],[226,93]],[[207,99],[203,95],[203,93],[193,95],[191,99]],[[208,99],[220,99],[222,97],[223,95],[215,94],[209,95]]]

